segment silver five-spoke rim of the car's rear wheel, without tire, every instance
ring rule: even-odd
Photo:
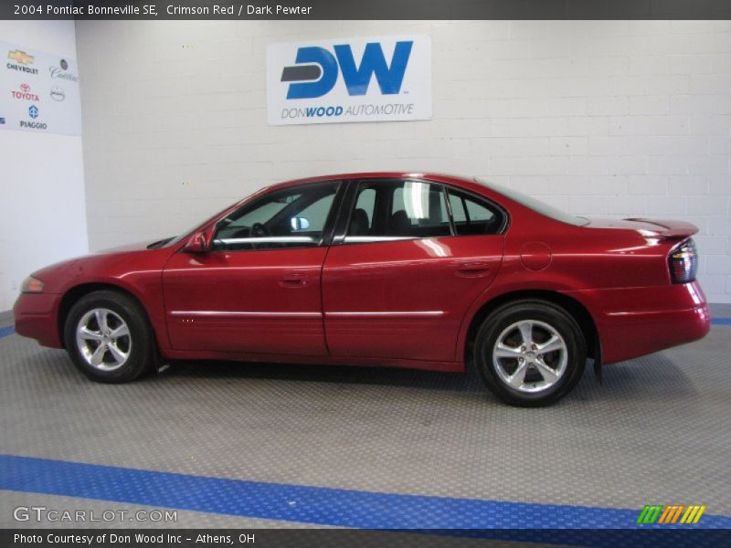
[[[534,394],[549,389],[566,374],[568,348],[554,327],[544,321],[516,321],[493,346],[493,365],[505,385]]]

